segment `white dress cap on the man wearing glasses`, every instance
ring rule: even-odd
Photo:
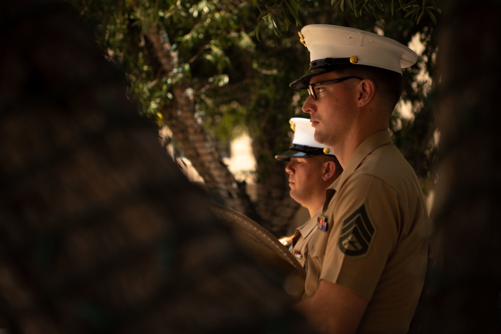
[[[291,83],[296,89],[306,89],[311,77],[340,66],[366,65],[402,74],[417,61],[416,53],[397,41],[359,29],[309,25],[299,35],[311,63],[308,73]]]

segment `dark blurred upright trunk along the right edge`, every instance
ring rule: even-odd
[[[429,334],[501,332],[501,3],[477,5],[441,2]]]

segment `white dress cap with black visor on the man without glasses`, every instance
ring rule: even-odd
[[[289,121],[294,138],[289,150],[275,156],[277,160],[290,161],[291,158],[308,158],[316,155],[334,155],[332,148],[315,141],[315,128],[308,118],[294,117]]]

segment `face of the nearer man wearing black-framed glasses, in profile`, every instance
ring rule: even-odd
[[[311,78],[310,83],[346,77],[338,72],[329,72]],[[356,90],[359,79],[349,79],[337,84],[315,87],[317,100],[310,95],[303,105],[303,111],[311,115],[310,121],[315,128],[315,140],[319,143],[336,146],[346,138],[348,130],[353,126],[353,112],[356,110]]]

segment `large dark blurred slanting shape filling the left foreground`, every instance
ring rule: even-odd
[[[4,4],[0,307],[10,333],[311,332],[125,95],[73,10]]]

